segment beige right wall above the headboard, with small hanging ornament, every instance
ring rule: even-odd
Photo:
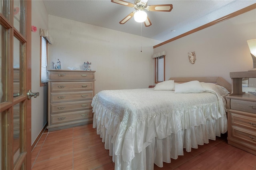
[[[166,51],[166,80],[170,77],[221,76],[231,83],[233,71],[248,71],[252,57],[246,40],[256,38],[256,10],[230,18],[154,48]],[[196,52],[191,64],[188,52]]]

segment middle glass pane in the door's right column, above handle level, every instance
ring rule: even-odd
[[[20,95],[20,55],[22,42],[20,42],[16,37],[14,37],[13,45],[13,97],[18,97]]]

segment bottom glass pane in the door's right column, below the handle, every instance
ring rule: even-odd
[[[13,162],[20,155],[20,113],[22,113],[22,105],[18,103],[13,107]]]

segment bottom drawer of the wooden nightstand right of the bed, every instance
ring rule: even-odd
[[[256,144],[256,132],[252,130],[232,126],[231,137],[240,140],[241,143],[248,142],[250,144]]]

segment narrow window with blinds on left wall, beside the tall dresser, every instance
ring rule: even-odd
[[[40,74],[40,86],[44,86],[48,82],[48,71],[47,71],[47,43],[48,41],[46,38],[41,36],[41,60],[40,60],[40,68],[41,68],[41,74]]]

